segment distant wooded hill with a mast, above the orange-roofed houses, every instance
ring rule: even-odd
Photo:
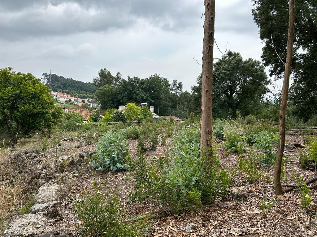
[[[65,78],[56,74],[52,74],[50,78],[49,73],[43,73],[42,76],[43,82],[52,91],[67,92],[72,96],[84,99],[94,96],[96,88],[91,82],[80,82],[72,78]]]

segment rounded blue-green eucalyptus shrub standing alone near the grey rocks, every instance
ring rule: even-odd
[[[126,159],[129,156],[128,143],[122,132],[104,133],[97,143],[97,153],[94,155],[95,161],[92,165],[97,170],[117,170],[126,169]]]

